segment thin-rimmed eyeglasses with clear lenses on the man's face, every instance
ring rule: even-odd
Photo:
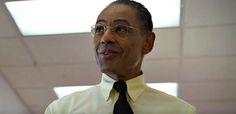
[[[99,37],[104,35],[104,33],[108,30],[108,28],[111,30],[111,32],[115,33],[120,37],[125,37],[131,31],[131,29],[136,29],[132,26],[127,26],[127,25],[116,25],[114,27],[111,27],[102,24],[96,24],[91,27],[91,33],[93,37]]]

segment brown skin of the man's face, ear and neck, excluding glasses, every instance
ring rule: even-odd
[[[155,34],[141,31],[136,10],[124,4],[108,6],[98,16],[96,24],[122,24],[136,28],[125,37],[117,36],[108,29],[103,36],[94,38],[96,61],[101,72],[117,81],[142,74],[143,57],[152,50]]]

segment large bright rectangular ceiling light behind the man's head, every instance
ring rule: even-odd
[[[180,0],[137,0],[153,16],[154,27],[179,26]],[[26,0],[6,6],[23,35],[89,32],[111,0]]]

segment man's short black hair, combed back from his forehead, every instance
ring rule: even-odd
[[[152,32],[153,30],[152,15],[143,4],[133,0],[116,0],[110,3],[108,7],[114,4],[125,4],[136,9],[137,16],[140,22],[143,22],[141,28],[144,29],[145,32]]]

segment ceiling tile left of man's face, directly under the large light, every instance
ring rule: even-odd
[[[34,36],[24,38],[38,64],[94,61],[90,34]]]

